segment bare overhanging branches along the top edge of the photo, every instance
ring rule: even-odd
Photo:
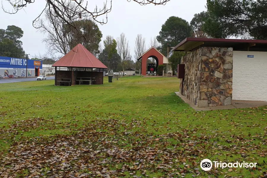
[[[94,9],[90,9],[92,5],[88,5],[88,2],[84,2],[84,0],[75,0],[72,1],[74,3],[75,10],[71,9],[68,6],[68,3],[65,4],[64,0],[45,0],[46,5],[43,8],[43,10],[39,13],[39,16],[33,20],[33,26],[35,28],[39,28],[38,25],[36,25],[36,22],[39,21],[39,18],[41,15],[48,9],[49,13],[57,15],[57,21],[63,21],[66,26],[69,26],[69,28],[74,28],[77,30],[76,26],[73,24],[74,21],[81,19],[81,18],[92,18],[98,23],[104,24],[107,23],[107,13],[111,11],[112,8],[112,0],[110,1],[110,4],[104,2],[104,5],[102,8],[98,8],[97,6]],[[71,0],[68,0],[71,1]],[[131,0],[127,0],[130,2]],[[155,5],[165,5],[166,2],[170,0],[132,0],[140,5],[147,5],[147,4],[155,4]],[[7,7],[4,7],[2,4],[2,9],[4,12],[15,14],[19,10],[24,9],[26,10],[26,7],[31,7],[31,4],[35,2],[35,0],[6,0],[8,4],[10,4],[10,9]],[[63,10],[62,10],[63,9]],[[106,19],[104,20],[98,20],[99,16],[106,15]],[[82,34],[81,34],[82,35]]]

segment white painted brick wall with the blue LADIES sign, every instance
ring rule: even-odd
[[[267,101],[267,52],[233,51],[232,99]]]

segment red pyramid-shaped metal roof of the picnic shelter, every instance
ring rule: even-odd
[[[84,68],[103,68],[107,69],[90,51],[81,44],[75,46],[69,53],[55,62],[53,67],[84,67]]]

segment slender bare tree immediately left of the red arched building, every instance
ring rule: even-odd
[[[134,58],[136,59],[136,69],[139,70],[139,74],[141,74],[142,63],[137,61],[137,58],[139,58],[145,51],[146,39],[142,37],[142,34],[138,34],[135,39]]]

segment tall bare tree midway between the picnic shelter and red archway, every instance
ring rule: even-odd
[[[117,38],[117,52],[121,58],[121,66],[123,68],[123,76],[124,71],[131,61],[131,51],[129,47],[129,41],[126,39],[125,34],[120,34],[120,37]]]

